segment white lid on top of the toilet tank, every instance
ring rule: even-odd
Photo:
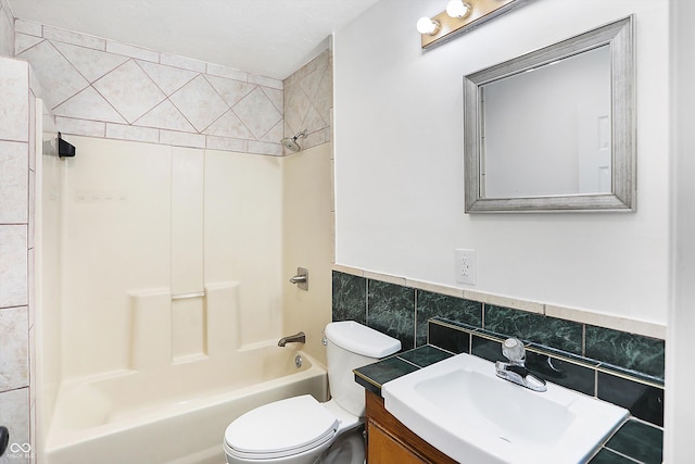
[[[343,350],[369,358],[383,358],[401,349],[401,341],[354,321],[341,321],[326,326],[326,338]]]

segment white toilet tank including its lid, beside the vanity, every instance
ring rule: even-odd
[[[354,321],[326,326],[328,387],[344,410],[365,415],[365,389],[355,383],[353,369],[401,350],[401,341]]]

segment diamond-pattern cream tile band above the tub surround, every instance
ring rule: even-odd
[[[303,148],[329,140],[328,51],[283,83],[22,20],[14,49],[64,134],[267,155],[302,129]]]

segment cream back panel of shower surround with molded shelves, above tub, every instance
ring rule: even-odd
[[[79,155],[64,165],[63,379],[282,333],[278,159],[70,141]]]

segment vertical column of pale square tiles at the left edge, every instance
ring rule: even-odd
[[[4,21],[0,12],[0,23]],[[22,463],[31,456],[27,443],[34,405],[29,392],[34,99],[26,62],[0,58],[0,425],[10,429],[10,444],[21,447],[5,452],[0,463]]]

